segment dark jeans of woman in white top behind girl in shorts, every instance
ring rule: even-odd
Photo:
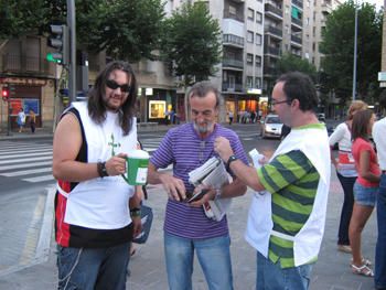
[[[336,171],[336,175],[344,192],[344,201],[341,213],[341,223],[339,225],[337,245],[350,245],[349,226],[354,206],[354,183],[356,178],[345,178]]]

